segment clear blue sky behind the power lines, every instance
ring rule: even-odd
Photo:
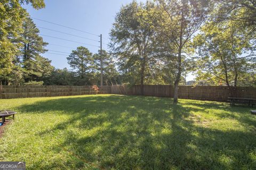
[[[24,7],[27,9],[30,16],[34,18],[33,20],[39,28],[41,36],[44,38],[44,41],[49,43],[49,45],[47,46],[49,52],[43,54],[43,56],[49,58],[52,61],[52,65],[56,68],[63,69],[64,67],[67,67],[68,69],[70,69],[66,57],[68,56],[68,54],[70,54],[71,50],[76,49],[76,47],[78,46],[85,46],[92,53],[98,52],[99,47],[94,46],[100,46],[100,43],[97,42],[97,40],[99,40],[99,37],[95,35],[102,34],[102,41],[104,43],[102,46],[103,49],[107,49],[106,44],[108,44],[108,34],[115,20],[115,15],[120,10],[122,5],[130,2],[132,2],[132,0],[45,0],[46,7],[41,10],[35,10],[30,5],[25,5]],[[146,0],[142,0],[142,2],[146,2]],[[63,28],[58,25],[43,22],[37,19],[76,28],[78,30],[90,32],[95,35],[90,35],[85,32],[76,31],[68,28]],[[54,32],[47,29],[67,32],[76,36],[81,36],[96,41],[65,35],[63,33]],[[84,44],[55,39],[47,36],[68,39]],[[85,44],[90,44],[93,46]],[[193,77],[189,75],[187,79],[191,80],[192,78]]]

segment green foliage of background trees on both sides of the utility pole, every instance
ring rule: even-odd
[[[103,58],[103,84],[109,85],[116,83],[118,73],[113,57],[102,50]],[[69,65],[75,71],[73,75],[73,85],[92,85],[100,84],[100,50],[97,54],[92,54],[86,47],[77,47],[67,57]],[[62,72],[62,71],[61,71]],[[64,73],[64,72],[63,72]],[[67,75],[67,71],[65,71]],[[62,75],[59,75],[60,77]]]

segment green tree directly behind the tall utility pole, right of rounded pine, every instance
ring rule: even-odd
[[[106,83],[108,86],[109,84],[113,84],[115,82],[118,73],[115,68],[115,61],[114,58],[106,51],[102,50],[102,58],[103,58],[103,83]],[[95,80],[97,83],[100,84],[100,50],[97,54],[93,55],[93,72],[95,73]]]

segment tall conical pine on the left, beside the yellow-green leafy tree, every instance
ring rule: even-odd
[[[51,61],[40,56],[46,52],[47,43],[39,36],[39,30],[30,18],[25,19],[22,30],[19,38],[13,40],[13,43],[20,46],[15,52],[15,57],[12,58],[12,69],[1,76],[5,84],[41,81],[43,76],[49,75],[53,70]]]

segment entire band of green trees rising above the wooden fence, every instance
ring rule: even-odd
[[[2,3],[2,83],[99,85],[99,53],[72,50],[72,70],[55,69],[41,56],[47,43],[22,3],[44,7],[41,0]],[[252,1],[133,1],[116,14],[103,50],[103,84],[174,84],[174,98],[178,84],[256,86],[255,30]],[[186,83],[190,72],[195,81]]]

